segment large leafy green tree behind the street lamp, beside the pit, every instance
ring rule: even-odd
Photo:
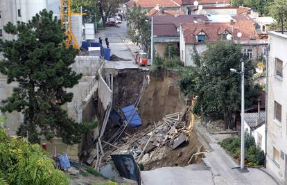
[[[241,52],[241,46],[230,42],[209,45],[200,58],[200,67],[180,80],[184,94],[198,96],[194,112],[203,116],[224,118],[226,127],[232,127],[234,114],[241,105],[241,78],[231,73],[233,68],[241,71],[241,60],[245,60],[245,106],[256,103],[260,87],[251,82],[252,67]]]

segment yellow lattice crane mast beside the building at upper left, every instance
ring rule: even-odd
[[[73,46],[74,49],[80,49],[75,35],[71,29],[71,15],[83,15],[71,12],[71,0],[60,0],[60,11],[61,11],[61,23],[65,28],[65,34],[67,35],[67,40],[65,43],[67,47]]]

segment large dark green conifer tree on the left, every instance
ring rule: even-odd
[[[72,93],[65,89],[78,83],[81,75],[71,70],[78,50],[67,47],[60,22],[53,12],[43,10],[28,23],[8,23],[6,33],[17,35],[17,40],[1,41],[4,60],[0,72],[7,82],[18,82],[12,96],[3,101],[1,112],[17,111],[24,114],[24,123],[17,134],[38,143],[60,136],[64,143],[80,141],[84,123],[68,117],[62,105],[71,102]]]

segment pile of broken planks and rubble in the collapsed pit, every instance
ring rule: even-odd
[[[152,161],[160,161],[168,150],[174,150],[189,141],[192,129],[186,126],[188,112],[189,109],[186,109],[184,114],[180,112],[168,114],[155,123],[153,128],[149,127],[146,132],[136,132],[132,135],[125,133],[127,136],[121,140],[125,143],[121,141],[115,143],[113,148],[116,150],[110,154],[132,154],[143,166]],[[103,161],[109,160],[110,157],[103,159]]]

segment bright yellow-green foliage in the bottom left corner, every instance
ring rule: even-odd
[[[69,184],[40,146],[21,137],[8,137],[2,127],[0,156],[0,184]]]

